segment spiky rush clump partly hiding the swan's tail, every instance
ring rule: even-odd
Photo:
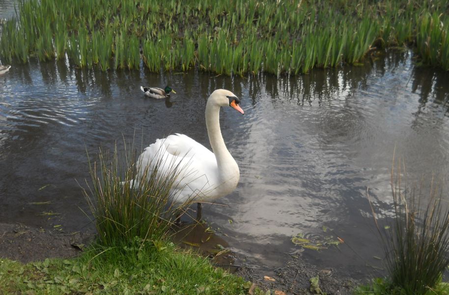
[[[89,160],[92,184],[87,184],[84,195],[100,245],[129,246],[136,238],[142,245],[157,243],[167,237],[172,219],[182,213],[182,206],[174,207],[169,201],[169,191],[182,169],[162,158],[152,161],[154,170],[145,167],[138,173],[138,154],[126,146],[123,156],[115,147],[112,153],[101,149],[98,161]],[[164,175],[157,173],[162,166],[168,168]]]

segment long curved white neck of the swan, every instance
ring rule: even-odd
[[[220,106],[211,99],[208,99],[206,104],[206,127],[210,145],[217,159],[219,177],[224,181],[228,181],[229,177],[237,177],[238,181],[237,163],[227,150],[220,129]]]

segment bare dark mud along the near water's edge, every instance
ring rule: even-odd
[[[0,257],[22,263],[42,261],[46,258],[73,258],[81,253],[83,245],[88,244],[93,237],[93,234],[81,232],[63,233],[57,229],[33,228],[20,223],[0,223]],[[225,243],[219,236],[216,238]],[[209,250],[201,252],[208,255],[207,251]],[[315,294],[309,289],[310,278],[316,275],[319,275],[321,291],[328,295],[352,294],[355,286],[363,283],[334,269],[320,269],[308,265],[300,258],[292,259],[284,266],[274,269],[274,275],[269,276],[270,280],[264,278],[266,273],[246,266],[242,259],[233,253],[227,253],[221,259],[213,260],[213,263],[217,266],[236,265],[230,268],[235,274],[252,281],[262,289],[281,290],[285,294]]]

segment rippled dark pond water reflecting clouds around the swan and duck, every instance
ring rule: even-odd
[[[89,178],[86,151],[134,137],[146,146],[171,133],[210,147],[204,109],[219,88],[246,110],[221,112],[241,178],[218,200],[226,206],[205,205],[203,218],[253,267],[291,259],[300,249],[292,236],[338,236],[345,241],[338,247],[294,255],[367,277],[383,254],[366,192],[378,205],[391,203],[393,151],[411,181],[449,172],[449,74],[415,67],[410,53],[279,78],[103,73],[67,61],[12,65],[0,76],[0,222],[93,231],[77,183]],[[167,84],[177,92],[169,100],[140,91]]]

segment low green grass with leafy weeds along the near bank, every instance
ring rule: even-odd
[[[146,246],[140,248],[138,242],[135,247],[127,248],[90,248],[78,258],[46,259],[26,265],[0,259],[1,292],[36,295],[248,294],[252,285],[171,243],[161,242],[157,248]],[[257,289],[254,294],[262,293]]]

